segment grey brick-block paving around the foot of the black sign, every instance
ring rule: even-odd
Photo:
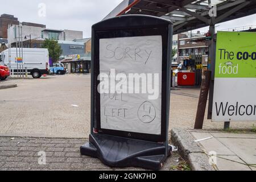
[[[99,159],[81,156],[80,146],[87,141],[87,138],[0,137],[0,171],[145,170],[138,167],[111,168],[101,163]],[[10,144],[13,147],[8,147]],[[52,146],[52,144],[54,145]],[[33,147],[30,147],[30,145]],[[46,164],[39,163],[42,161],[40,160],[42,159],[42,155],[40,155],[42,151],[46,154]],[[179,159],[179,162],[176,162],[177,159]],[[177,152],[174,152],[166,160],[161,170],[176,170],[172,167],[179,164],[184,164],[184,160]]]

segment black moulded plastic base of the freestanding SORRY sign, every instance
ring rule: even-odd
[[[172,148],[168,148],[168,156]],[[138,139],[91,134],[89,142],[81,146],[81,155],[98,158],[110,167],[142,167],[159,170],[166,160],[164,143]]]

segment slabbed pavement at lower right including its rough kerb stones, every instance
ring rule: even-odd
[[[192,170],[256,170],[256,133],[175,128],[171,138]]]

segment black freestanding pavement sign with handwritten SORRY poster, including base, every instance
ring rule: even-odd
[[[138,159],[143,152],[146,158],[163,154],[150,168],[161,166],[170,153],[171,42],[172,23],[162,18],[125,15],[94,24],[92,126],[81,154],[120,167],[146,167]]]

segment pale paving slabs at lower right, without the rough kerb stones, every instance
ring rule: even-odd
[[[256,133],[221,133],[216,131],[193,131],[195,140],[213,159],[220,171],[256,171]],[[211,156],[212,155],[212,156]]]

